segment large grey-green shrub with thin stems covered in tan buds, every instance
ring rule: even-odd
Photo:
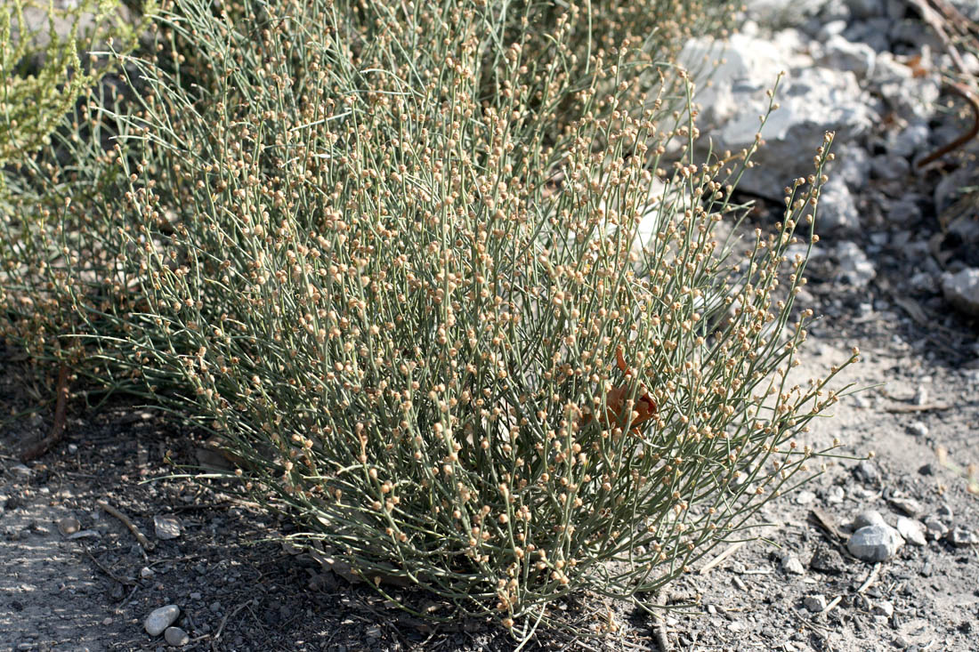
[[[750,152],[693,159],[672,36],[589,39],[614,9],[171,10],[140,106],[100,108],[116,148],[74,150],[99,198],[45,209],[51,262],[4,252],[0,308],[217,434],[293,540],[526,639],[585,588],[644,605],[827,452],[800,440],[838,369],[787,380],[785,255],[828,136],[740,251],[715,230]]]

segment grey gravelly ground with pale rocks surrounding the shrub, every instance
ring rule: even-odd
[[[677,581],[663,621],[586,596],[568,613],[585,626],[612,619],[620,638],[542,635],[532,649],[979,649],[979,495],[964,476],[979,461],[979,200],[968,190],[979,150],[917,164],[971,122],[920,4],[754,0],[755,21],[700,96],[704,131],[733,150],[787,72],[769,145],[742,184],[758,202],[754,224],[777,219],[780,188],[809,172],[807,148],[837,133],[802,296],[822,317],[799,372],[862,350],[846,381],[869,389],[812,434],[841,439],[849,457],[771,504],[762,539],[721,546]],[[692,43],[690,56],[705,51]],[[65,442],[21,464],[23,442],[50,428],[51,392],[11,351],[0,360],[12,415],[0,421],[0,649],[513,648],[485,623],[426,626],[263,541],[289,526],[215,483],[171,477],[167,460],[213,456],[143,408],[76,398]]]

